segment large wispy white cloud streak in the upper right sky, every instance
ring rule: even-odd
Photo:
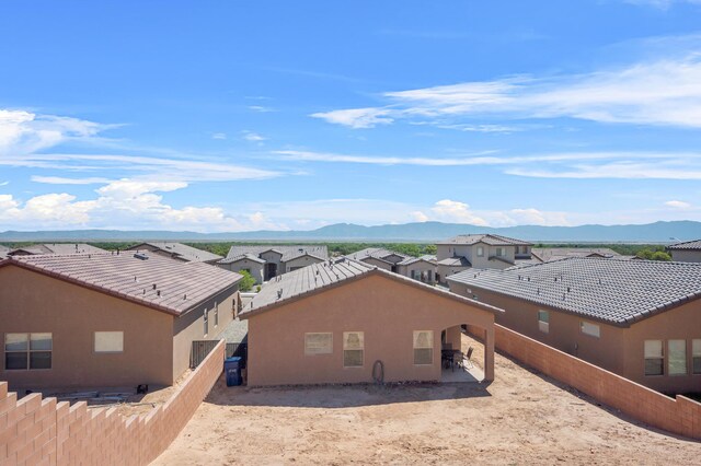
[[[387,92],[390,106],[313,114],[350,128],[397,119],[491,116],[559,118],[701,128],[701,54],[552,78],[516,77]],[[467,128],[470,128],[469,126]],[[479,129],[479,126],[476,126]]]

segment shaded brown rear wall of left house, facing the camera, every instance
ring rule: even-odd
[[[0,380],[12,389],[173,383],[171,315],[12,265],[0,282]],[[95,331],[124,331],[124,351],[95,353]],[[5,370],[8,333],[51,333],[51,369]]]

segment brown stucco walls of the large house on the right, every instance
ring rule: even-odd
[[[468,291],[470,290],[470,291]],[[691,374],[691,340],[701,339],[701,301],[664,312],[624,328],[567,314],[548,306],[503,296],[486,290],[450,282],[450,291],[503,308],[496,323],[526,337],[541,341],[602,369],[622,375],[650,388],[665,393],[701,392],[701,375]],[[549,331],[539,329],[538,311],[550,312]],[[599,338],[581,331],[581,323],[599,326]],[[663,340],[665,375],[646,376],[644,372],[644,341]],[[688,375],[667,375],[667,341],[687,341]],[[498,343],[497,343],[498,346]]]

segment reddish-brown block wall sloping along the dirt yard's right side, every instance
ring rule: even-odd
[[[701,440],[701,404],[658,392],[501,325],[496,349],[652,427]],[[498,373],[496,374],[498,377]]]

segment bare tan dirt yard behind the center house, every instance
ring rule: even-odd
[[[701,443],[635,423],[497,354],[490,385],[229,388],[220,380],[154,464],[700,462]]]

